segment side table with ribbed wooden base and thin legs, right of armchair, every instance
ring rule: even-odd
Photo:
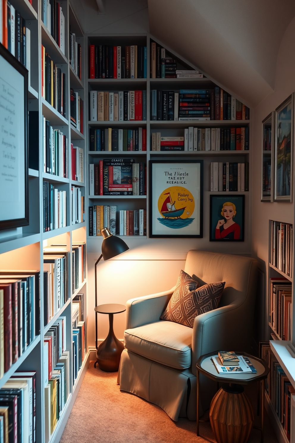
[[[245,352],[236,352],[235,354],[240,359],[241,364],[238,366],[240,369],[230,367],[230,372],[225,366],[222,366],[218,358],[218,351],[201,355],[197,361],[197,435],[199,435],[199,374],[201,373],[215,380],[218,386],[211,401],[209,414],[217,443],[245,443],[248,441],[254,423],[254,412],[243,385],[253,382],[261,384],[261,428],[258,429],[261,431],[261,443],[263,443],[264,389],[269,368],[261,358],[253,357]],[[219,383],[222,383],[220,389]]]

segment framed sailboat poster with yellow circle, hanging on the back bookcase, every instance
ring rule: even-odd
[[[203,160],[150,160],[149,237],[203,237]]]

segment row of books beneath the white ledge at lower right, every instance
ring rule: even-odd
[[[260,342],[260,357],[264,359],[270,369],[265,383],[265,390],[282,424],[287,439],[290,441],[291,395],[295,394],[295,389],[273,354],[269,342]]]

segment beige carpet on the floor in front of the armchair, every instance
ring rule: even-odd
[[[61,437],[61,443],[205,443],[215,442],[210,422],[200,423],[200,437],[195,435],[195,422],[172,421],[154,404],[120,392],[117,373],[93,367],[88,371],[77,395],[73,410]],[[256,407],[256,385],[247,392]],[[277,443],[266,415],[265,443]],[[260,443],[260,432],[253,430],[249,443]]]

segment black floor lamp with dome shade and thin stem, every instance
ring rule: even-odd
[[[129,247],[126,245],[125,241],[122,240],[120,237],[116,237],[115,235],[112,235],[110,230],[108,228],[101,229],[101,233],[103,236],[103,243],[101,245],[101,255],[96,260],[96,263],[94,265],[94,275],[95,275],[95,307],[97,307],[97,271],[96,267],[98,262],[103,258],[103,260],[109,260],[110,258],[113,258],[119,254],[122,254],[123,252],[127,251]],[[110,333],[113,332],[112,330],[112,317],[110,316],[110,331],[107,338],[109,338]],[[115,338],[115,336],[114,336]],[[106,339],[107,340],[107,339]],[[106,340],[104,342],[106,342]],[[116,341],[118,341],[117,338],[115,338]],[[103,342],[103,343],[104,343]],[[97,311],[95,313],[95,346],[96,346],[96,357],[97,357]],[[114,343],[113,343],[114,346]],[[115,349],[114,349],[115,351]],[[122,350],[121,350],[122,352]],[[110,356],[111,357],[111,356]]]

